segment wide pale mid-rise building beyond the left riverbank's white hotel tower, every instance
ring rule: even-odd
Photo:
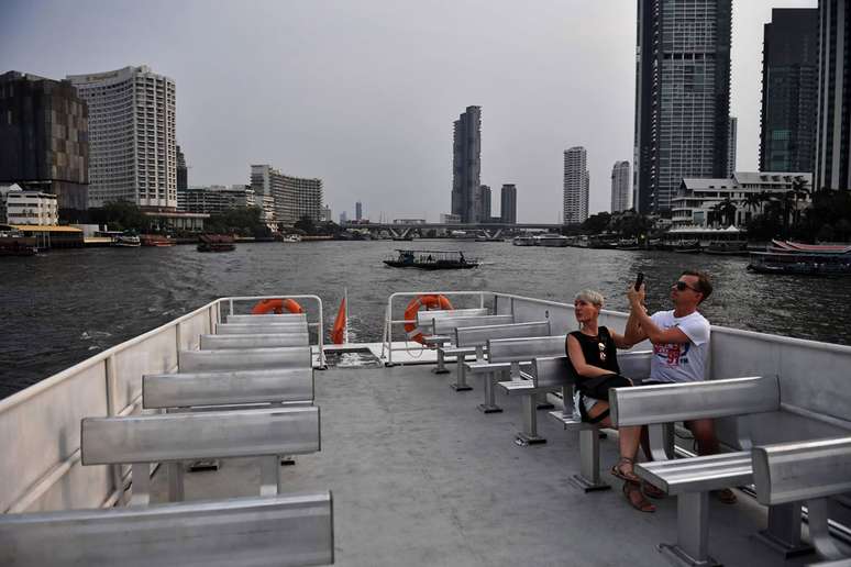
[[[322,220],[322,180],[291,177],[267,164],[251,166],[251,188],[256,196],[272,197],[274,222],[292,226],[302,216]]]

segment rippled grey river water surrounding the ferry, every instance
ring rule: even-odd
[[[380,340],[384,308],[395,291],[490,290],[572,302],[576,291],[594,288],[606,296],[607,308],[626,311],[625,290],[643,271],[648,305],[661,309],[679,271],[696,267],[715,282],[703,308],[714,324],[851,344],[844,279],[751,274],[740,257],[508,242],[410,243],[464,251],[482,258],[477,269],[385,267],[382,259],[398,244],[240,244],[226,254],[199,254],[194,246],[91,248],[2,258],[0,398],[222,296],[314,293],[324,302],[329,327],[347,288],[350,340],[372,342]]]

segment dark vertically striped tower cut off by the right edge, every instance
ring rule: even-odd
[[[851,189],[851,10],[844,0],[818,3],[819,87],[814,189]]]

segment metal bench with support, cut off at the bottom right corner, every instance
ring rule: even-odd
[[[806,501],[810,541],[830,562],[818,565],[851,565],[828,530],[829,498],[851,491],[851,437],[754,447],[751,458],[756,500],[769,507],[799,507]]]

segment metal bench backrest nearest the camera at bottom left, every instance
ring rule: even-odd
[[[0,565],[254,567],[334,563],[330,492],[0,514]]]

